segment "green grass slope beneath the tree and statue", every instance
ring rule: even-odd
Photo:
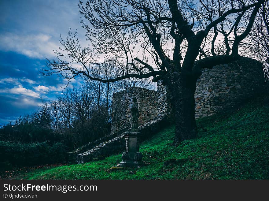
[[[249,102],[233,114],[197,120],[198,136],[171,146],[175,127],[141,144],[146,166],[111,171],[121,153],[101,161],[61,166],[30,179],[269,179],[268,99]],[[164,166],[164,161],[176,163]]]

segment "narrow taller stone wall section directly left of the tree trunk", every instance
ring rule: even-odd
[[[173,117],[172,107],[172,95],[171,91],[166,85],[163,85],[163,81],[157,82],[157,93],[158,93],[158,108],[157,108],[157,119],[170,119]]]

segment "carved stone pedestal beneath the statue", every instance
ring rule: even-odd
[[[121,158],[122,162],[119,167],[141,167],[142,154],[139,152],[139,138],[141,132],[137,130],[130,130],[123,133],[126,140],[126,151],[123,152]]]

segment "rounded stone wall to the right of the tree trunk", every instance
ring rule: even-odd
[[[195,91],[195,117],[229,112],[258,95],[265,84],[262,64],[243,57],[203,69]]]

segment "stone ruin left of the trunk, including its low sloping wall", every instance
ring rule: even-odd
[[[131,87],[113,96],[111,134],[69,152],[69,162],[83,163],[98,155],[115,153],[125,148],[125,143],[121,144],[122,133],[130,128],[130,105],[133,95],[138,97],[139,130],[143,134],[150,136],[161,126],[172,123],[171,93],[162,85],[162,81],[158,81],[157,91]]]

